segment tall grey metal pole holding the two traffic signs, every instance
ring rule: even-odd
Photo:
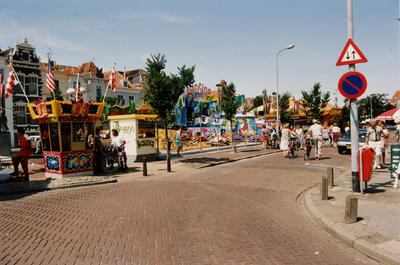
[[[353,30],[353,0],[347,0],[347,30],[348,38],[354,39]],[[349,72],[355,71],[356,65],[349,65]],[[358,180],[358,113],[357,99],[350,99],[350,128],[351,128],[351,176],[353,192],[360,192],[360,181]]]

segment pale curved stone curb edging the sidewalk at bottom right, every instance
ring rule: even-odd
[[[310,213],[312,218],[326,231],[328,231],[331,235],[345,243],[351,248],[354,248],[361,253],[372,257],[380,262],[384,262],[387,264],[400,264],[400,257],[398,255],[392,254],[376,244],[369,243],[363,239],[358,238],[356,235],[351,234],[343,225],[335,224],[330,221],[324,214],[322,214],[317,207],[314,205],[313,200],[311,198],[311,194],[318,190],[319,188],[314,188],[308,191],[305,195],[305,204],[307,211]],[[332,206],[334,209],[334,207]],[[335,209],[337,211],[337,209]],[[340,213],[339,211],[337,211]],[[343,216],[344,218],[344,216]]]

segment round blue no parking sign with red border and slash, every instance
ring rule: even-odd
[[[364,94],[367,89],[367,79],[359,72],[345,73],[339,79],[339,91],[346,98],[354,99]]]

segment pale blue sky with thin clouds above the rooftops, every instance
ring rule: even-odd
[[[196,84],[221,80],[246,97],[277,91],[301,98],[316,82],[343,105],[336,66],[348,40],[347,0],[15,0],[0,8],[0,48],[26,37],[42,62],[94,61],[103,71],[145,69],[151,55],[166,73],[196,65]],[[399,0],[353,0],[354,42],[367,57],[356,70],[367,79],[364,98],[392,97],[399,88]]]

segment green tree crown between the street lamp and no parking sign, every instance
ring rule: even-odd
[[[330,100],[330,92],[322,93],[321,84],[314,84],[310,92],[301,91],[303,98],[300,99],[300,104],[306,108],[306,115],[309,118],[321,120],[321,109],[325,108]]]

